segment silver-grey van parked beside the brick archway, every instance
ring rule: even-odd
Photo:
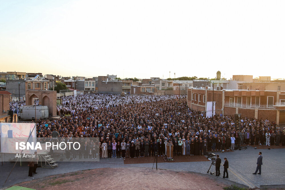
[[[47,106],[20,106],[19,119],[48,118]]]

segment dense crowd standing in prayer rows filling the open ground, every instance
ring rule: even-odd
[[[179,102],[180,100],[180,102]],[[274,121],[242,117],[237,130],[232,116],[206,118],[186,105],[186,95],[120,96],[86,94],[62,97],[58,120],[38,120],[37,137],[98,137],[88,144],[101,158],[202,155],[235,146],[285,146],[285,128]],[[171,153],[167,151],[171,149]],[[92,154],[91,154],[92,155]],[[75,157],[76,158],[76,157]],[[91,159],[94,155],[91,156]]]

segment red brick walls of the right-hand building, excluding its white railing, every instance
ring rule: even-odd
[[[206,93],[207,92],[207,97]],[[212,90],[206,89],[188,89],[187,93],[187,105],[189,108],[197,111],[205,111],[205,99],[207,101],[212,101]],[[223,99],[224,96],[224,99]],[[238,113],[241,113],[243,117],[255,118],[256,119],[266,119],[268,118],[270,121],[276,121],[279,118],[278,110],[284,110],[284,107],[276,107],[276,110],[270,109],[258,109],[255,110],[253,108],[241,108],[241,107],[227,107],[223,106],[227,102],[232,103],[243,103],[243,104],[263,104],[269,105],[269,98],[272,100],[273,104],[285,101],[285,91],[246,91],[246,90],[234,90],[234,91],[216,91],[214,90],[214,101],[216,101],[215,112],[216,115],[223,113],[223,115],[233,116],[236,113],[236,109]],[[256,102],[258,101],[259,102]],[[223,111],[222,111],[223,110]],[[256,113],[257,111],[257,113]],[[279,120],[276,121],[279,123]]]

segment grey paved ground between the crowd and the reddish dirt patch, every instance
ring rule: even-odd
[[[263,165],[262,174],[253,175],[252,173],[256,169],[256,162],[258,152],[262,151]],[[227,157],[229,161],[229,178],[228,180],[247,185],[251,188],[260,187],[260,185],[283,185],[285,184],[285,149],[253,149],[248,147],[247,150],[235,150],[234,152],[225,152],[219,154],[222,158]],[[207,174],[211,162],[164,162],[158,163],[158,169],[170,169],[176,171],[194,171],[203,174]],[[6,177],[9,175],[14,163],[6,162],[3,166],[0,166],[1,179],[0,184],[3,187]],[[28,181],[31,178],[28,177],[27,163],[16,164],[13,172],[5,183],[4,187],[19,183],[22,181]],[[78,170],[95,169],[95,168],[120,168],[120,167],[143,167],[152,168],[152,163],[146,164],[124,164],[123,159],[101,159],[100,162],[77,162],[77,163],[59,163],[59,167],[55,169],[38,168],[37,174],[34,178],[42,178],[49,175],[62,174]],[[163,172],[163,170],[161,170]],[[223,168],[221,166],[221,173]],[[207,174],[210,175],[210,174]],[[216,177],[216,176],[214,176]],[[221,178],[222,176],[218,177]],[[199,179],[198,179],[199,180]],[[227,179],[225,179],[227,180]]]

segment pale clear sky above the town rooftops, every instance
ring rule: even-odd
[[[285,78],[284,10],[284,0],[1,0],[0,72]]]

